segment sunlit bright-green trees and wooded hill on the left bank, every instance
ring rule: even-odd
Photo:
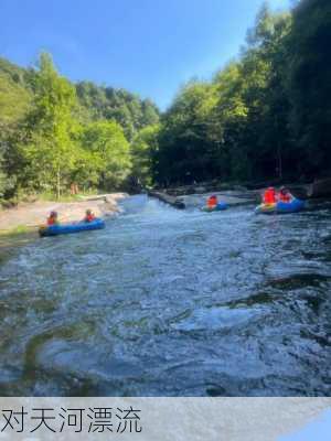
[[[159,121],[149,100],[92,83],[72,85],[47,54],[36,69],[0,58],[0,198],[124,185],[130,144]]]

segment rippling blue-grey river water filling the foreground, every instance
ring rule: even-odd
[[[330,207],[122,206],[2,256],[0,395],[330,396]]]

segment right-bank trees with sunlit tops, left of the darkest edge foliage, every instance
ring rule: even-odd
[[[286,92],[289,14],[264,6],[241,58],[191,82],[161,119],[159,183],[282,178],[291,159]]]

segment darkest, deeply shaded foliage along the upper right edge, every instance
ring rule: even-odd
[[[302,0],[289,39],[290,125],[298,142],[299,172],[331,170],[331,2]]]

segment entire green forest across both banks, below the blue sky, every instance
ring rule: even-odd
[[[72,84],[47,54],[26,69],[1,58],[0,197],[330,175],[330,0],[265,4],[239,56],[163,114],[124,89]]]

